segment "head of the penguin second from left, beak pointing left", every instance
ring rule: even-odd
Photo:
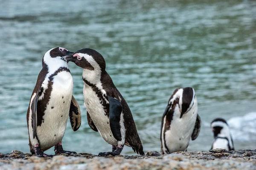
[[[102,72],[106,68],[104,58],[94,49],[79,49],[73,55],[69,55],[66,60],[72,61],[77,66],[91,71]]]

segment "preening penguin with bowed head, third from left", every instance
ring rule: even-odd
[[[161,153],[186,151],[190,138],[195,140],[200,128],[195,90],[191,87],[175,89],[162,117]]]

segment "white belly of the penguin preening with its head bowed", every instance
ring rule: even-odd
[[[189,112],[184,114],[182,118],[179,116],[180,115],[173,116],[170,129],[165,133],[165,140],[169,153],[185,151],[188,147],[189,140],[195,127],[197,107],[192,108]]]

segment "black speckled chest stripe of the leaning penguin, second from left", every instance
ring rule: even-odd
[[[103,94],[102,91],[95,85],[87,81],[86,79],[83,78],[83,81],[85,84],[90,86],[93,89],[93,92],[96,93],[97,97],[99,98],[100,104],[102,104],[103,109],[104,109],[104,114],[108,116],[109,118],[109,104],[106,101],[107,95]]]

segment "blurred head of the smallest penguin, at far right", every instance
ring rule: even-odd
[[[230,135],[230,130],[227,121],[223,118],[215,118],[211,123],[211,128],[214,138],[228,137]]]

